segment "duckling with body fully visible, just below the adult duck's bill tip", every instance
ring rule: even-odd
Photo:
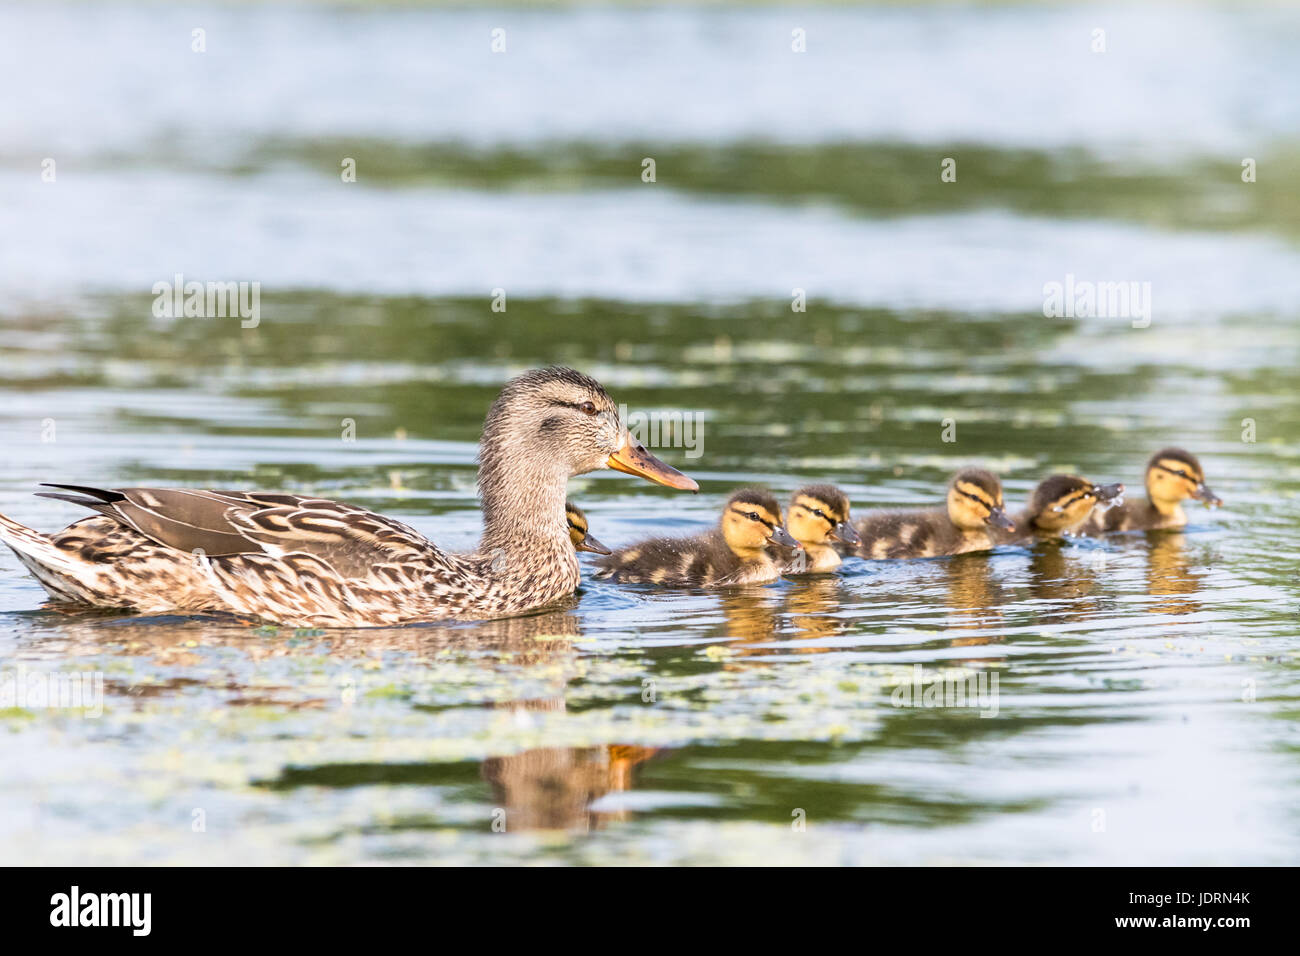
[[[768,546],[798,549],[781,527],[781,506],[763,490],[732,494],[712,531],[694,537],[654,537],[598,558],[597,578],[627,584],[723,588],[766,584],[780,578]]]

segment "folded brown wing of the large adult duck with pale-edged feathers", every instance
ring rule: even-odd
[[[77,494],[40,494],[84,505],[178,551],[208,557],[309,554],[343,578],[364,578],[378,562],[441,557],[413,528],[329,498],[190,488],[49,486]]]

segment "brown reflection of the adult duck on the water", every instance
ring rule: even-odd
[[[575,637],[581,633],[580,622],[568,611],[571,606],[576,606],[576,601],[560,610],[455,627],[348,631],[250,627],[230,619],[114,617],[62,607],[57,619],[51,617],[48,630],[38,627],[23,645],[26,654],[34,658],[109,653],[148,659],[164,671],[183,671],[161,679],[151,675],[147,684],[130,679],[105,680],[110,695],[144,698],[207,688],[220,693],[229,706],[257,704],[286,710],[326,709],[339,705],[342,698],[303,700],[287,683],[274,685],[255,679],[256,667],[248,663],[294,657],[318,659],[324,654],[343,665],[346,674],[358,663],[378,666],[391,653],[432,661],[446,652],[467,652],[456,657],[458,666],[494,669],[516,676],[540,674],[554,685],[554,695],[542,698],[486,705],[516,711],[526,721],[534,714],[563,714],[566,688],[581,674],[575,646]],[[209,652],[231,648],[242,652],[244,662],[222,666],[220,675],[213,674]],[[536,691],[536,683],[532,687]],[[627,818],[625,809],[606,813],[590,806],[607,793],[632,790],[636,767],[656,753],[660,750],[621,743],[536,748],[488,757],[481,763],[481,774],[491,788],[493,809],[506,812],[506,831],[585,831]],[[494,822],[495,818],[485,819],[484,826]]]

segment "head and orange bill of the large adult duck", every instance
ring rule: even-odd
[[[529,486],[614,468],[668,488],[699,490],[628,434],[601,382],[572,368],[533,369],[506,382],[488,410],[478,460],[480,485]]]

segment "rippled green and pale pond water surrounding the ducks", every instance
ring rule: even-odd
[[[1136,490],[1169,444],[1226,501],[1182,535],[744,593],[588,579],[556,613],[396,631],[58,613],[5,553],[5,667],[107,697],[0,709],[4,861],[1295,862],[1292,8],[0,27],[26,91],[0,120],[0,511],[34,527],[79,516],[42,480],[248,486],[471,548],[486,406],[555,362],[702,421],[698,458],[662,449],[697,497],[572,483],[611,545],[748,483],[857,511],[937,502],[968,462],[1015,502],[1057,470]],[[155,317],[176,273],[260,282],[260,323]],[[1149,282],[1149,328],[1045,317],[1067,274]],[[996,674],[997,715],[893,706],[916,663]]]

